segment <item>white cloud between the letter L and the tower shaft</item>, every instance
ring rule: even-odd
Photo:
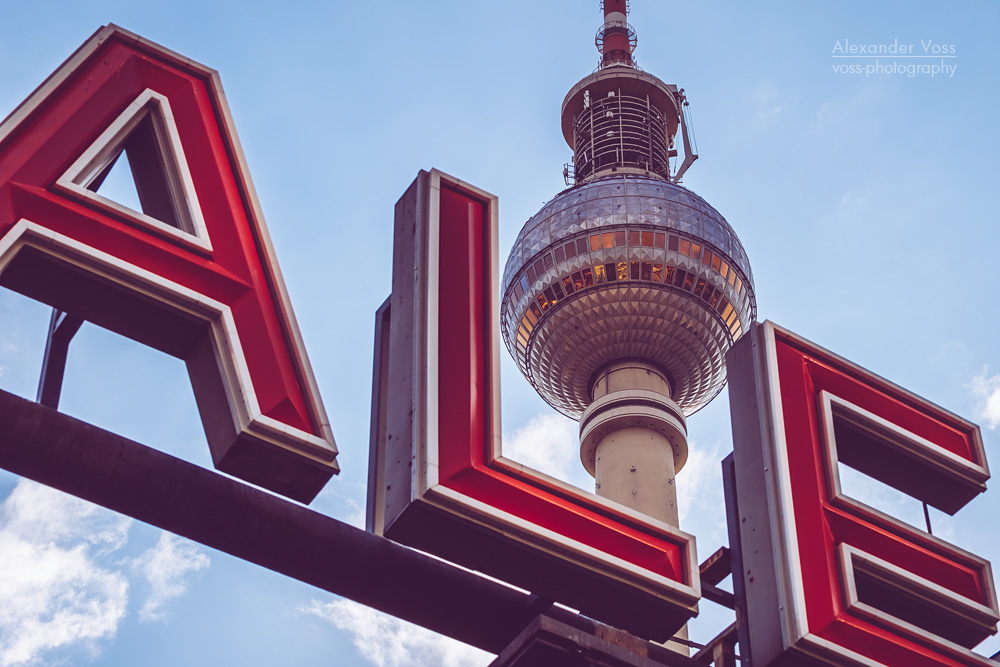
[[[588,484],[580,463],[579,426],[557,414],[541,414],[504,437],[503,455],[569,484]],[[583,479],[583,475],[587,475]]]

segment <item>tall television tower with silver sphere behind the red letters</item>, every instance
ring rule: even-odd
[[[726,219],[679,185],[697,158],[684,90],[636,66],[628,0],[602,8],[598,68],[562,105],[571,187],[514,242],[502,334],[541,397],[580,420],[597,494],[676,526],[685,417],[726,382],[753,276]]]

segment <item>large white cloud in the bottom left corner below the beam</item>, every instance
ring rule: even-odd
[[[129,519],[20,480],[0,505],[0,665],[37,664],[68,645],[96,652],[125,617],[128,580],[95,560]]]

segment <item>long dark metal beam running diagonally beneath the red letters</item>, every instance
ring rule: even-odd
[[[631,637],[665,665],[698,665],[2,390],[0,467],[492,653],[541,614],[589,635]]]

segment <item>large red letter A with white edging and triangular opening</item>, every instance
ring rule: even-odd
[[[142,210],[100,194],[128,155]],[[218,74],[115,26],[0,124],[0,284],[185,360],[220,470],[309,502],[337,449]]]

